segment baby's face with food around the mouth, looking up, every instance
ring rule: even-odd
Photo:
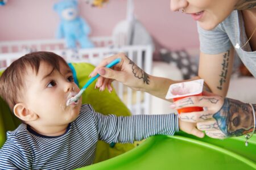
[[[25,78],[24,103],[38,115],[36,125],[61,126],[69,124],[79,116],[81,99],[66,106],[69,97],[79,92],[68,66],[60,63],[60,72],[46,62],[41,62],[38,75],[28,69]]]

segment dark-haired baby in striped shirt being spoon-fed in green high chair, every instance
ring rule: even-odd
[[[71,69],[51,52],[14,61],[0,77],[0,95],[22,120],[0,150],[0,169],[75,169],[93,163],[96,143],[133,143],[155,134],[196,130],[176,114],[104,116],[81,99]]]

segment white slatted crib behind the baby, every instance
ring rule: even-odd
[[[116,53],[126,53],[146,73],[151,74],[152,48],[150,45],[113,47],[112,37],[92,37],[96,46],[92,49],[71,50],[65,48],[64,40],[0,41],[0,69],[5,69],[15,59],[32,51],[47,50],[59,54],[67,62],[88,62],[98,65],[100,61]],[[113,83],[120,99],[133,114],[150,113],[150,95],[133,91],[122,83]]]

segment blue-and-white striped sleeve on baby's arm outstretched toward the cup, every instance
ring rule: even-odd
[[[115,116],[94,112],[99,139],[108,143],[133,143],[156,134],[179,131],[176,114]]]

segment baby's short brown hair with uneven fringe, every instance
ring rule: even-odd
[[[19,99],[22,99],[24,78],[27,69],[31,68],[38,74],[40,63],[44,61],[60,71],[60,62],[68,66],[65,60],[52,52],[33,52],[16,59],[0,76],[0,96],[13,110]]]

